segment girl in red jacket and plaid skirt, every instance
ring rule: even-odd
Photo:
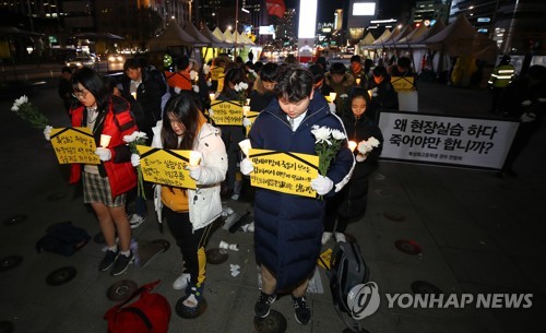
[[[112,95],[93,69],[79,69],[72,75],[72,88],[73,96],[78,98],[70,109],[72,127],[91,129],[100,164],[72,164],[70,183],[83,180],[83,200],[93,207],[107,245],[98,270],[105,272],[111,269],[111,275],[120,275],[133,259],[126,197],[136,186],[131,152],[123,136],[132,134],[138,128],[129,103]],[[49,132],[45,131],[47,140],[50,139]],[[103,143],[104,146],[100,146],[102,134],[110,136],[109,143]]]

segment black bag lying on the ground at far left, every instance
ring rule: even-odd
[[[74,227],[72,222],[67,221],[48,228],[46,236],[36,242],[38,253],[41,250],[70,257],[83,248],[91,239],[87,231]]]

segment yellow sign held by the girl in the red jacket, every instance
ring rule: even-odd
[[[51,144],[59,164],[100,164],[97,146],[90,128],[59,128],[51,130]]]

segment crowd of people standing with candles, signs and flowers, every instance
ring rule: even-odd
[[[288,59],[262,63],[249,57],[244,62],[227,55],[203,66],[188,56],[180,56],[174,63],[176,68],[163,71],[143,59],[128,59],[119,81],[102,78],[88,68],[74,73],[63,70],[59,95],[72,126],[90,128],[99,146],[95,154],[100,164],[73,165],[71,174],[71,182],[82,179],[84,202],[93,207],[108,248],[98,270],[112,275],[126,272],[134,255],[131,228],[151,217],[146,201],[135,195],[134,167],[140,156],[130,152],[124,135],[142,131],[147,134],[146,144],[153,147],[201,154],[200,164],[188,167],[197,189],[165,185],[154,185],[153,189],[149,185],[146,189],[154,193],[158,218],[166,221],[181,252],[182,274],[173,287],[185,290],[185,310],[198,317],[212,224],[221,216],[222,200],[240,198],[238,179],[248,179],[254,171],[238,143],[248,138],[256,148],[316,155],[311,130],[328,127],[345,139],[328,173],[308,185],[324,200],[250,189],[248,181],[244,186],[252,192],[247,198],[253,204],[254,252],[262,277],[254,316],[266,318],[278,296],[290,295],[296,320],[307,324],[311,311],[306,290],[321,247],[332,238],[347,241],[347,225],[366,214],[369,177],[383,141],[379,115],[397,109],[391,76],[415,76],[410,59],[401,57],[389,68],[372,68],[370,59],[363,61],[359,56],[351,58],[348,68],[342,62],[329,67],[323,57],[309,67]],[[523,131],[532,131],[543,114],[541,92],[545,82],[544,67],[539,67],[530,69],[524,82],[507,87],[531,94],[524,100],[510,102],[521,109],[511,116],[523,119],[526,115],[527,119],[518,136],[520,145],[529,141]],[[247,88],[241,91],[242,83]],[[330,93],[336,97],[331,99]],[[211,98],[248,104],[259,116],[253,122],[244,118],[241,124],[216,126]],[[246,127],[250,124],[247,136]],[[526,130],[531,124],[533,129]],[[49,138],[47,130],[45,134]],[[108,146],[99,145],[100,134],[111,136]],[[371,139],[378,145],[366,153],[349,146],[349,141]],[[509,155],[503,171],[512,171],[515,156],[515,151]],[[131,214],[127,211],[128,198],[134,200]]]

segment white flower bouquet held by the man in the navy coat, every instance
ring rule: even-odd
[[[311,128],[311,133],[314,135],[314,152],[319,155],[319,174],[325,177],[346,136],[342,131],[317,124]],[[322,195],[319,199],[322,200]]]

